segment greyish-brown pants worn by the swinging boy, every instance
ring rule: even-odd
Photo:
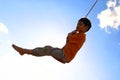
[[[43,48],[38,47],[32,50],[35,56],[52,56],[55,59],[61,60],[64,63],[67,62],[64,52],[60,48],[53,48],[51,46],[45,46]]]

